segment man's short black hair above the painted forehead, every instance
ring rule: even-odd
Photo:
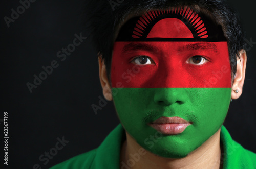
[[[88,0],[84,4],[84,24],[91,32],[92,42],[111,74],[112,50],[117,28],[130,15],[142,15],[150,10],[190,7],[198,14],[209,16],[221,25],[227,40],[232,79],[237,71],[239,53],[246,51],[245,34],[236,10],[224,0]],[[199,12],[198,12],[199,11]]]

